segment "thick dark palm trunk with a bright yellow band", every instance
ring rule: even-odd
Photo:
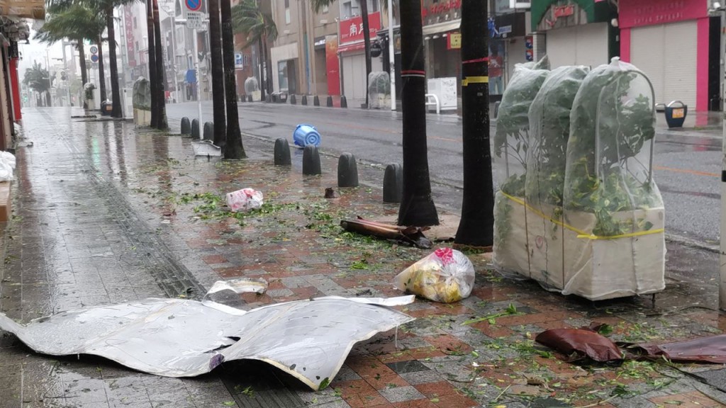
[[[462,140],[464,197],[454,242],[478,247],[494,243],[494,184],[489,147],[489,76],[486,57],[486,1],[463,0],[461,7]]]

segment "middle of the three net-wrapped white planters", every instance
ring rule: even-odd
[[[562,199],[570,111],[590,68],[552,70],[529,108],[525,200],[529,277],[543,287],[563,287]]]

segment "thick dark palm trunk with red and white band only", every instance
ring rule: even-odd
[[[439,215],[431,198],[428,176],[420,1],[401,1],[401,80],[404,168],[399,225],[438,225]]]

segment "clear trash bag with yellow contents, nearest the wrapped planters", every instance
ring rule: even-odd
[[[396,287],[431,301],[452,303],[468,298],[474,287],[474,266],[463,253],[439,248],[395,278]]]

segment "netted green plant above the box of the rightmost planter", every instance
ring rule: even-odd
[[[593,234],[649,228],[613,214],[662,204],[650,168],[655,122],[653,89],[632,65],[613,60],[582,83],[571,112],[564,205],[593,213]]]

